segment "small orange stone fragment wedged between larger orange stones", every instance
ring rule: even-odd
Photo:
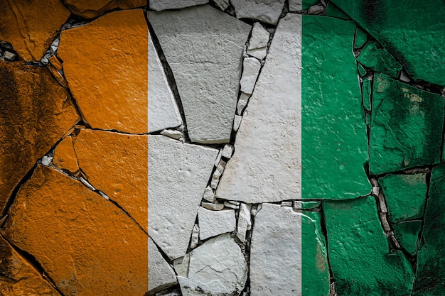
[[[60,170],[67,170],[73,175],[79,172],[79,164],[73,148],[73,138],[67,136],[54,149],[53,165]]]

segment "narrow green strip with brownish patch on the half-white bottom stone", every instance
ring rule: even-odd
[[[301,293],[303,296],[328,296],[329,285],[326,238],[321,231],[321,214],[304,211],[301,216]]]

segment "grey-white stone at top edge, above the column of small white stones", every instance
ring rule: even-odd
[[[237,18],[252,18],[277,24],[284,8],[284,0],[231,0]]]

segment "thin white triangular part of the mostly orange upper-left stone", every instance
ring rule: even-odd
[[[149,133],[182,124],[159,56],[149,34]]]

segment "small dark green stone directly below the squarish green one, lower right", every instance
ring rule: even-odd
[[[417,239],[422,229],[422,221],[407,221],[392,224],[395,237],[408,253],[414,256],[417,253]]]

